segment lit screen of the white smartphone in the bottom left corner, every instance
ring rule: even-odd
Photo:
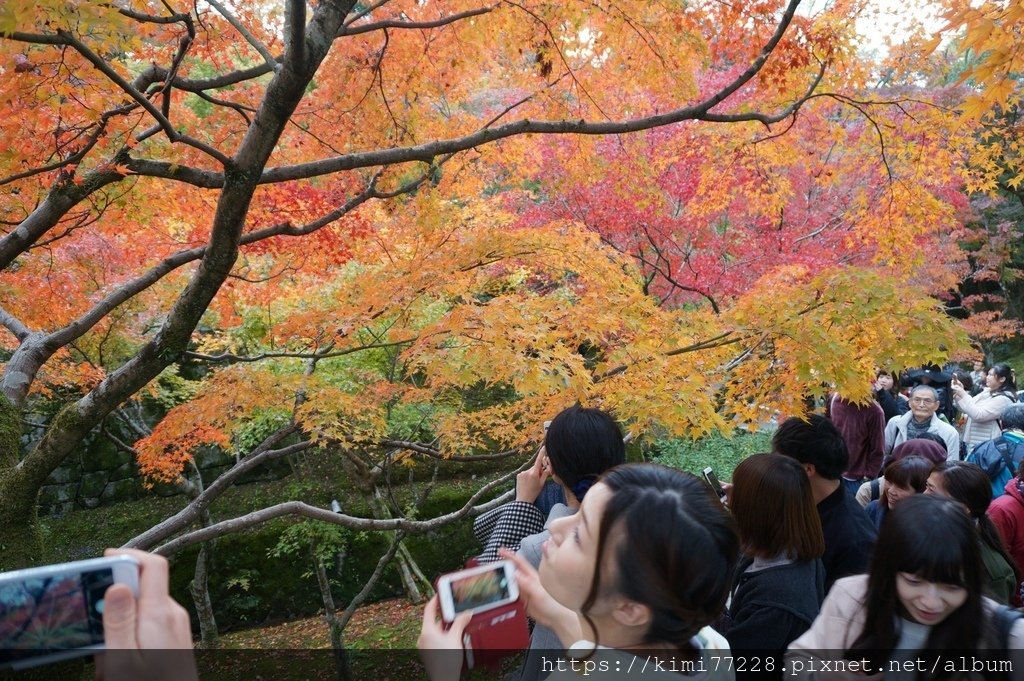
[[[0,666],[103,642],[110,567],[0,583]]]

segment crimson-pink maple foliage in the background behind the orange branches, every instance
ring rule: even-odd
[[[634,257],[664,304],[719,309],[780,265],[836,262],[940,293],[963,268],[949,236],[967,205],[957,167],[969,138],[949,134],[951,112],[914,98],[935,92],[889,95],[809,102],[781,136],[677,126],[593,150],[549,142],[538,188],[514,205],[525,224],[591,226]],[[640,174],[655,180],[637,187]]]

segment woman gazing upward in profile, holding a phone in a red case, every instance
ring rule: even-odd
[[[631,664],[655,657],[660,668],[646,670],[655,678],[734,678],[714,665],[712,651],[727,654],[727,643],[709,625],[725,605],[738,540],[703,482],[653,464],[620,466],[593,485],[578,513],[549,529],[540,570],[506,554],[516,563],[527,613],[567,648],[563,667],[552,659],[549,679],[577,678],[585,664],[598,679],[622,678]],[[437,608],[435,597],[419,647],[432,681],[451,681],[462,668],[469,616],[445,630]],[[677,673],[685,669],[706,671]]]

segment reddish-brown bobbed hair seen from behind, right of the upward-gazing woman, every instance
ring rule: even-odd
[[[729,508],[751,556],[803,561],[824,553],[811,482],[790,457],[756,454],[739,462],[732,472]]]

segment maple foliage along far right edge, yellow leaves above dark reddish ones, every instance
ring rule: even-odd
[[[991,357],[994,344],[1024,330],[1016,303],[1024,270],[1015,253],[1024,238],[1016,208],[1024,197],[1018,76],[1024,7],[946,0],[939,15],[942,29],[928,37],[919,34],[904,52],[919,62],[922,54],[930,56],[922,74],[929,80],[955,80],[965,89],[955,108],[972,135],[963,164],[972,214],[959,231],[969,269],[952,311],[967,315],[965,329]]]

